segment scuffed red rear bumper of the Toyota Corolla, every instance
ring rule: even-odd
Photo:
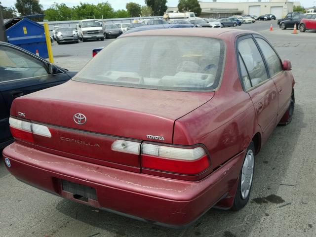
[[[236,184],[243,156],[240,153],[203,180],[190,182],[56,156],[16,142],[3,150],[3,157],[11,163],[8,171],[23,182],[80,203],[172,227],[194,222],[225,197]],[[62,190],[61,180],[94,188],[98,200],[75,199]]]

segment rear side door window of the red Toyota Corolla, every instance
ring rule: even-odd
[[[251,87],[267,80],[267,70],[254,40],[252,38],[240,40],[237,47],[239,56],[247,69]]]

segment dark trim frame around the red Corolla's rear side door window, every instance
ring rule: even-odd
[[[260,83],[256,84],[255,86],[251,86],[250,88],[246,89],[245,88],[245,85],[242,81],[242,75],[241,75],[241,70],[240,70],[240,61],[239,61],[239,50],[238,50],[238,44],[241,40],[245,40],[245,39],[252,39],[255,43],[255,45],[257,46],[257,49],[262,57],[262,60],[263,60],[263,63],[265,65],[265,69],[266,69],[266,73],[267,73],[267,79],[265,79],[264,81],[261,81]],[[245,91],[245,92],[249,92],[259,86],[261,86],[262,84],[266,83],[268,80],[270,80],[270,74],[269,74],[269,71],[268,71],[268,67],[267,67],[267,63],[266,63],[266,59],[265,57],[263,56],[262,52],[261,52],[261,48],[258,47],[258,43],[257,41],[254,39],[253,35],[252,34],[243,34],[243,35],[240,35],[238,36],[237,40],[235,40],[235,56],[236,56],[236,61],[237,61],[237,72],[238,72],[238,77],[239,77],[239,81],[241,83],[241,86],[242,86],[242,89]],[[242,59],[242,57],[241,57]],[[245,68],[247,70],[247,73],[248,73],[248,69],[247,69],[247,66],[245,65]],[[249,73],[248,73],[248,77],[250,79],[250,82],[251,82],[251,78],[249,76]],[[252,85],[252,82],[251,82],[251,85]]]

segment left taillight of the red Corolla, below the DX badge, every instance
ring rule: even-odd
[[[9,118],[10,131],[14,138],[34,143],[33,134],[51,137],[48,127],[31,121]]]

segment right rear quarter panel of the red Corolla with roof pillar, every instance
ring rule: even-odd
[[[261,132],[253,103],[238,78],[235,38],[225,41],[224,74],[213,99],[176,120],[174,127],[173,143],[204,144],[213,169],[245,150],[253,135]]]

